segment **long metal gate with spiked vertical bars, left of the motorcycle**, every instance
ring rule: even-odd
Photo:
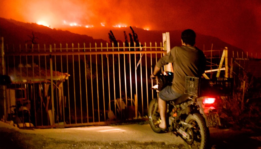
[[[5,47],[6,73],[13,81],[7,88],[8,119],[48,128],[146,116],[157,96],[149,90],[156,83],[149,78],[152,66],[166,51],[161,43],[118,46]]]

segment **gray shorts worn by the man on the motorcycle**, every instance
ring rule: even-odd
[[[161,98],[164,101],[170,101],[177,99],[181,96],[182,94],[175,92],[172,89],[172,86],[166,86],[159,92],[159,98]]]

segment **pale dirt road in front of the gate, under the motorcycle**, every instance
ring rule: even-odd
[[[261,133],[214,129],[213,149],[260,148]],[[0,122],[0,148],[184,148],[180,137],[157,134],[148,124],[23,130]]]

